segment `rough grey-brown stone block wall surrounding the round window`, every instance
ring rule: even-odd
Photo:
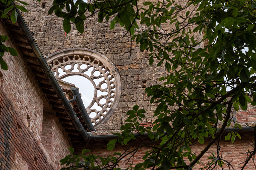
[[[83,34],[73,26],[71,33],[66,34],[60,19],[53,15],[47,16],[51,2],[46,2],[44,9],[41,3],[31,2],[27,6],[30,14],[24,14],[24,17],[46,57],[62,49],[88,48],[105,55],[118,69],[121,79],[119,104],[110,119],[96,130],[99,133],[106,130],[111,134],[119,129],[120,122],[126,119],[126,112],[136,104],[147,111],[146,122],[152,122],[156,105],[150,104],[145,88],[157,83],[162,84],[163,82],[158,82],[158,79],[166,74],[166,69],[156,67],[157,62],[149,66],[148,53],[140,51],[140,47],[135,42],[132,43],[133,51],[130,56],[130,37],[129,34],[125,35],[126,32],[122,27],[116,26],[115,29],[110,30],[110,22],[99,24],[97,17],[93,16],[85,21]],[[140,26],[139,32],[144,28],[145,26]]]

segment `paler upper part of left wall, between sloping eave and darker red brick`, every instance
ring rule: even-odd
[[[10,39],[5,45],[18,49],[17,46],[14,46],[15,43],[5,28],[2,22],[0,34],[8,36]],[[4,60],[8,63],[8,70],[2,70],[1,89],[8,96],[14,110],[17,110],[22,122],[28,126],[36,140],[40,141],[44,98],[42,91],[22,56],[14,57],[6,53]]]

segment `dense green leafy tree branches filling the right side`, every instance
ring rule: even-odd
[[[191,169],[220,141],[230,125],[232,108],[246,110],[248,103],[256,105],[256,1],[194,0],[179,4],[167,0],[143,5],[139,8],[137,0],[55,0],[49,14],[54,11],[65,19],[67,33],[72,23],[83,33],[84,20],[97,14],[100,23],[104,19],[111,22],[110,29],[119,24],[130,33],[131,41],[149,51],[150,65],[165,65],[169,74],[159,79],[164,85],[146,89],[150,102],[158,104],[153,129],[140,124],[146,111],[135,106],[127,112],[129,117],[118,139],[107,147],[112,150],[116,141],[127,144],[143,139],[139,147],[147,146],[151,151],[135,169]],[[137,22],[147,29],[136,32]],[[164,24],[173,27],[161,31]],[[225,139],[234,142],[236,136],[240,138],[238,133],[229,133]],[[196,155],[191,145],[203,144],[206,139],[206,147]],[[242,168],[255,152],[248,152]],[[209,168],[227,163],[218,149],[209,159]]]

